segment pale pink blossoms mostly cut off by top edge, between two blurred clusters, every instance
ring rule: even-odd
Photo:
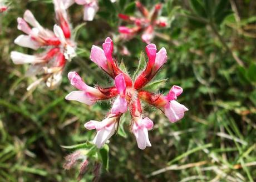
[[[73,3],[83,6],[83,20],[92,21],[95,14],[99,10],[98,0],[63,0],[66,7],[71,6]],[[111,0],[112,3],[116,0]]]

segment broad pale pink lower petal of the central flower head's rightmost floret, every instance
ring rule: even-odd
[[[174,123],[184,117],[184,112],[188,111],[184,105],[171,100],[170,103],[165,106],[165,115],[168,117],[170,122]]]

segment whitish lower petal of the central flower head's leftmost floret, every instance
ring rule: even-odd
[[[92,105],[95,103],[95,98],[85,91],[76,90],[66,95],[66,100],[76,100],[78,102]]]

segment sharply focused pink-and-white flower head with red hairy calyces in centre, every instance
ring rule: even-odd
[[[85,124],[86,129],[97,130],[93,143],[98,148],[101,148],[115,134],[122,114],[129,110],[131,114],[131,131],[135,135],[138,147],[145,149],[146,146],[151,146],[148,130],[152,129],[154,124],[152,120],[143,116],[141,100],[161,109],[170,122],[176,122],[183,118],[184,112],[188,110],[184,105],[176,101],[183,89],[174,85],[167,95],[151,93],[144,89],[166,62],[165,48],[161,48],[157,52],[155,44],[146,46],[148,57],[146,68],[133,82],[128,74],[122,72],[116,60],[112,57],[113,42],[109,37],[106,38],[102,47],[103,49],[92,46],[90,59],[114,79],[115,85],[109,88],[101,88],[97,85],[97,87],[93,88],[83,82],[76,72],[70,72],[68,73],[68,79],[78,90],[68,94],[66,99],[92,105],[99,100],[115,98],[110,112],[102,122],[91,120]]]

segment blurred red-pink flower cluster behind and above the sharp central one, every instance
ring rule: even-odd
[[[134,27],[120,26],[119,32],[123,39],[131,39],[136,34],[141,33],[142,40],[149,44],[152,38],[154,38],[155,27],[166,27],[165,21],[157,19],[161,9],[161,4],[156,4],[151,14],[139,1],[136,1],[136,6],[142,14],[142,17],[132,17],[126,14],[119,14],[120,19],[135,25]]]

